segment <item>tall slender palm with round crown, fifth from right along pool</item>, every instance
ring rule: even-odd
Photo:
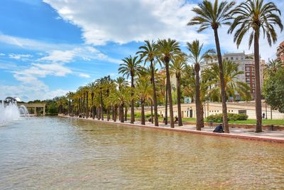
[[[170,60],[173,59],[174,56],[180,54],[180,46],[177,41],[168,38],[168,40],[158,40],[156,44],[158,50],[158,58],[162,60],[165,64],[165,73],[167,78],[167,87],[168,87],[168,100],[170,104],[170,127],[174,128],[174,120],[173,120],[173,99],[172,99],[172,88],[170,85],[170,69],[169,63]]]

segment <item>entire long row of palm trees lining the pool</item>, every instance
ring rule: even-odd
[[[173,115],[173,87],[170,76],[175,75],[177,84],[175,93],[178,104],[178,125],[182,125],[181,100],[182,94],[192,97],[196,105],[197,130],[204,125],[202,103],[207,100],[222,101],[222,113],[225,132],[229,132],[227,122],[226,101],[237,91],[244,100],[249,100],[249,87],[236,80],[241,74],[236,63],[222,60],[218,29],[222,25],[229,26],[228,33],[234,33],[234,42],[239,47],[246,33],[250,32],[249,46],[253,41],[254,60],[256,70],[256,132],[261,132],[261,88],[259,73],[259,37],[261,31],[268,39],[268,44],[275,43],[277,34],[274,25],[283,25],[280,21],[280,10],[275,4],[265,4],[263,0],[248,0],[238,6],[234,1],[208,0],[202,1],[192,9],[195,16],[189,21],[189,26],[199,26],[198,32],[207,28],[214,31],[216,52],[213,49],[203,50],[203,44],[198,40],[187,43],[188,55],[180,50],[178,41],[173,39],[159,39],[158,41],[145,41],[139,47],[135,56],[124,58],[119,68],[123,77],[112,80],[109,76],[99,78],[94,83],[80,87],[76,93],[67,95],[73,101],[73,112],[77,115],[89,117],[91,113],[99,120],[127,120],[128,107],[131,108],[131,123],[135,122],[134,107],[141,106],[141,124],[145,125],[144,106],[151,105],[151,121],[158,126],[158,104],[165,105],[165,124],[168,124],[168,106],[170,127],[174,127]],[[204,52],[204,53],[202,53]],[[205,69],[200,73],[200,63],[207,58],[218,59],[218,64]],[[189,65],[191,63],[192,65]],[[164,72],[158,72],[159,64]],[[145,65],[149,65],[145,67]],[[124,78],[130,78],[131,85]],[[149,83],[150,82],[150,83]],[[180,87],[183,87],[182,90]],[[89,109],[89,93],[91,93],[91,108]],[[175,95],[175,94],[174,94]],[[70,106],[71,107],[71,106]],[[119,112],[117,112],[119,110]]]

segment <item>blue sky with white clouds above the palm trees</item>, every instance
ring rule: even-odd
[[[144,40],[199,39],[214,48],[212,29],[187,26],[197,0],[2,0],[0,1],[0,100],[46,100],[75,91],[110,75],[121,59],[134,56]],[[240,2],[239,0],[237,2]],[[283,0],[273,0],[284,10]],[[284,13],[283,13],[284,14]],[[281,16],[284,22],[284,16]],[[247,38],[236,48],[228,28],[219,28],[222,53],[252,53]],[[269,47],[260,40],[261,57],[275,58],[284,32]]]

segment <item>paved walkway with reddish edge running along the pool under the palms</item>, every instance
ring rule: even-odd
[[[86,120],[83,118],[79,118],[79,119]],[[92,120],[92,118],[89,117],[87,120]],[[94,119],[94,121],[107,122],[106,119],[104,121]],[[178,127],[178,125],[175,125],[175,128],[170,128],[170,125],[164,125],[163,123],[159,123],[159,127],[155,127],[151,122],[146,122],[146,125],[141,125],[141,122],[135,122],[134,124],[131,124],[129,120],[124,123],[121,123],[119,121],[113,122],[112,120],[110,120],[109,123],[116,123],[119,125],[135,125],[136,127],[152,128],[155,130],[171,130],[171,131],[177,131],[177,132],[207,134],[207,135],[214,135],[214,136],[220,136],[220,137],[234,137],[234,138],[240,138],[240,139],[254,139],[254,140],[261,140],[261,141],[268,141],[268,142],[284,143],[284,131],[263,130],[263,132],[254,132],[254,130],[252,129],[230,128],[229,129],[230,133],[226,134],[226,133],[212,132],[214,130],[214,127],[203,127],[202,131],[197,131],[195,130],[195,125],[183,125],[182,127]]]

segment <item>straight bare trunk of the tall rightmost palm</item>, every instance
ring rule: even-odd
[[[258,32],[254,31],[254,68],[256,72],[256,132],[262,132],[261,122],[261,78],[259,75],[259,41]]]

